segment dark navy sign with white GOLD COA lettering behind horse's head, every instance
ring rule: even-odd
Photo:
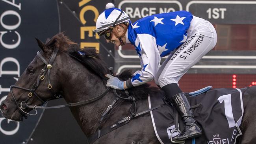
[[[56,7],[49,2],[0,1],[0,103],[40,50],[34,37],[45,41],[59,32]],[[24,122],[13,122],[0,114],[0,143],[26,142],[41,114]]]

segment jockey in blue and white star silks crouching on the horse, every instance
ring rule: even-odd
[[[185,125],[185,130],[173,140],[202,134],[178,81],[215,46],[217,34],[210,22],[187,11],[175,11],[147,16],[132,24],[124,11],[108,3],[96,21],[94,32],[116,46],[133,44],[139,55],[141,70],[127,81],[107,74],[108,87],[124,90],[154,79]],[[160,59],[165,56],[168,57],[160,66]]]

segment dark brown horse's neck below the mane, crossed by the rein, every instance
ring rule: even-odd
[[[61,63],[66,64],[60,67],[63,68],[61,83],[63,96],[67,103],[89,100],[106,90],[106,81],[90,72],[78,61],[69,58],[61,60]],[[102,111],[106,109],[112,99],[113,92],[108,92],[106,96],[96,102],[70,108],[85,135],[91,135],[96,131]]]

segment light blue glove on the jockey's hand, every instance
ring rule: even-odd
[[[119,78],[111,76],[110,74],[107,74],[106,77],[109,78],[107,81],[107,87],[124,90],[124,81],[120,81]]]

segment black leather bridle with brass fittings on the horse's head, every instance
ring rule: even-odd
[[[26,89],[26,88],[23,88],[23,87],[19,87],[19,86],[15,86],[15,85],[11,85],[10,87],[10,91],[11,91],[11,96],[13,97],[18,109],[19,109],[19,112],[22,116],[24,116],[25,118],[27,118],[26,114],[29,114],[29,115],[35,115],[37,114],[37,110],[35,109],[36,108],[36,105],[34,105],[33,107],[27,107],[27,102],[28,100],[33,96],[35,95],[41,102],[43,102],[43,105],[45,105],[47,102],[45,102],[44,100],[42,100],[38,94],[35,92],[35,90],[38,88],[39,84],[41,83],[41,81],[43,81],[45,79],[45,75],[47,73],[47,76],[48,76],[48,89],[52,89],[52,85],[51,85],[51,81],[50,81],[50,70],[52,69],[52,64],[54,63],[54,60],[56,58],[56,55],[58,53],[59,49],[58,48],[54,48],[54,51],[52,52],[52,55],[50,56],[50,59],[49,59],[49,62],[46,61],[46,59],[43,57],[43,55],[40,53],[40,51],[37,52],[37,56],[45,63],[45,66],[44,68],[41,70],[37,80],[33,83],[33,86],[31,89]],[[18,89],[23,89],[23,90],[27,90],[29,91],[28,93],[28,98],[26,98],[26,100],[20,102],[20,104],[18,104],[17,100],[15,99],[15,96],[13,94],[13,88],[18,88]],[[34,114],[30,114],[30,113],[26,113],[23,109],[26,109],[26,108],[32,108],[33,110],[35,110],[35,113]]]

